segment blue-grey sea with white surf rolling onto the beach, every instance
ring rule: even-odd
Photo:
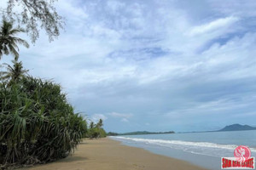
[[[208,169],[220,169],[221,157],[234,157],[234,150],[239,145],[248,146],[252,156],[256,157],[256,130],[125,135],[110,138]]]

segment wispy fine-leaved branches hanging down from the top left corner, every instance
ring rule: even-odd
[[[56,12],[53,4],[57,0],[7,0],[8,6],[4,15],[9,20],[16,20],[19,25],[26,27],[26,32],[35,42],[40,29],[44,29],[49,41],[60,35],[63,28],[63,18]],[[19,6],[19,10],[15,10]]]

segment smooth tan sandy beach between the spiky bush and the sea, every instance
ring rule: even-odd
[[[38,165],[26,170],[194,170],[196,167],[186,161],[153,154],[140,148],[125,146],[113,139],[84,139],[73,156]]]

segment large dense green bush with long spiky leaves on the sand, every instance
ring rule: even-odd
[[[0,164],[55,161],[73,153],[86,133],[61,86],[33,77],[0,83]]]

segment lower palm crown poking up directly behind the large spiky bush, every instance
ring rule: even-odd
[[[12,60],[13,66],[4,63],[6,65],[7,71],[1,71],[0,76],[1,80],[9,81],[9,83],[19,82],[22,78],[26,77],[26,73],[28,70],[23,69],[22,62],[18,62],[17,60]]]

